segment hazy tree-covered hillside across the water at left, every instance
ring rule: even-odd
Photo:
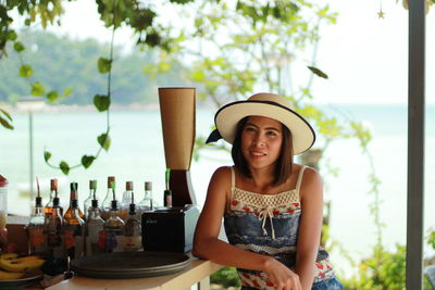
[[[89,60],[100,58],[107,51],[107,45],[92,39],[78,40],[60,37],[47,31],[26,29],[20,31],[23,43],[28,49],[23,58],[32,60],[32,72],[35,79],[45,84],[48,91],[71,88],[61,92],[50,104],[92,104],[91,96],[98,94],[107,86],[107,75],[98,73],[98,64]],[[138,49],[125,53],[121,47],[114,48],[113,65],[113,104],[156,102],[153,87],[159,84],[181,83],[176,75],[162,74],[151,80],[142,74],[141,66],[148,66],[153,58],[152,51],[140,52]],[[28,94],[28,83],[17,77],[21,67],[17,53],[11,51],[8,58],[0,61],[0,102],[13,104],[20,96]],[[62,97],[66,94],[67,97]]]

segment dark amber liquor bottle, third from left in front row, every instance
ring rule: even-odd
[[[84,253],[84,225],[83,213],[78,209],[77,182],[71,184],[70,207],[63,216],[63,244],[67,256],[79,259]]]

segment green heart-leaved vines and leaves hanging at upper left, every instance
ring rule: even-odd
[[[102,135],[98,139],[100,144],[98,151],[95,155],[83,155],[80,163],[70,166],[65,161],[61,161],[58,166],[50,163],[51,153],[46,150],[45,161],[52,167],[61,169],[63,174],[67,175],[71,169],[77,167],[89,167],[94,160],[96,160],[101,150],[108,150],[110,147],[110,103],[111,103],[111,80],[112,80],[112,65],[113,65],[113,40],[116,28],[121,25],[127,25],[134,28],[136,35],[138,36],[137,43],[144,43],[149,47],[161,47],[162,49],[169,49],[170,39],[163,36],[163,33],[169,30],[169,27],[163,27],[154,22],[157,13],[154,12],[154,7],[150,3],[144,4],[138,0],[96,0],[98,5],[98,12],[100,13],[101,20],[104,22],[107,27],[112,29],[112,41],[110,45],[109,56],[99,58],[97,62],[97,67],[100,74],[107,74],[107,91],[101,94],[98,93],[94,97],[94,104],[99,112],[107,113],[107,126]],[[187,3],[189,0],[170,0],[171,3]],[[14,0],[14,1],[0,1],[0,59],[7,55],[7,45],[8,42],[13,43],[13,49],[18,53],[21,65],[20,65],[20,76],[27,79],[30,88],[30,93],[36,97],[45,96],[49,101],[55,101],[60,97],[66,97],[66,92],[71,89],[66,88],[62,93],[57,90],[48,91],[44,84],[40,81],[32,79],[34,75],[34,70],[30,64],[24,63],[22,53],[26,50],[26,47],[18,40],[17,34],[11,28],[10,24],[13,23],[11,16],[11,11],[17,10],[18,13],[26,17],[25,25],[30,26],[32,23],[40,17],[40,22],[44,28],[47,24],[53,24],[54,21],[60,22],[60,16],[63,12],[61,0],[47,0],[47,1],[27,1],[27,0]],[[9,116],[4,110],[1,111],[3,115]],[[9,118],[12,122],[12,118]],[[12,129],[12,125],[4,117],[0,118],[0,124],[9,129]]]

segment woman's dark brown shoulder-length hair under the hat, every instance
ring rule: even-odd
[[[244,131],[245,125],[248,122],[248,117],[244,117],[237,124],[236,138],[233,142],[232,156],[234,165],[248,178],[251,178],[251,173],[248,167],[244,153],[241,152],[241,133]],[[283,127],[283,143],[281,146],[279,156],[275,164],[275,179],[273,180],[274,186],[278,186],[287,180],[291,174],[293,168],[293,143],[291,143],[291,131],[284,125]]]

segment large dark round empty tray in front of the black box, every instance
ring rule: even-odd
[[[83,276],[104,279],[146,278],[183,270],[189,263],[184,253],[121,252],[82,257],[71,262]]]

